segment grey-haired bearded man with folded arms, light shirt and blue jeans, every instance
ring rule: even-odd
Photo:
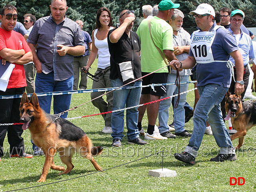
[[[184,14],[178,10],[174,9],[174,14],[172,15],[169,24],[173,29],[173,45],[174,45],[174,54],[176,58],[180,61],[185,60],[188,57],[188,52],[190,49],[190,34],[182,28]],[[191,74],[190,69],[183,69],[179,72],[180,74],[180,82],[187,82],[189,80],[189,75]],[[171,74],[168,74],[167,83],[174,83],[176,80],[176,70],[171,71]],[[188,90],[188,84],[180,84],[180,92],[184,92]],[[178,94],[178,87],[173,85],[168,85],[166,88],[167,96],[171,96],[173,94]],[[158,119],[160,126],[158,127],[159,132],[162,136],[167,138],[174,138],[176,135],[178,136],[191,136],[188,133],[185,126],[185,109],[184,105],[186,102],[187,94],[180,95],[180,102],[177,108],[174,108],[174,127],[175,127],[175,135],[169,132],[168,127],[168,118],[169,112],[168,109],[172,104],[172,99],[162,100],[160,102],[159,111],[158,111]],[[164,97],[162,97],[164,98]],[[174,103],[176,103],[177,97],[175,97]]]

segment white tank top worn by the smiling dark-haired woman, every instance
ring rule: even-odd
[[[110,30],[113,27],[110,27]],[[98,68],[105,69],[110,66],[110,53],[108,50],[108,38],[104,40],[98,40],[96,34],[98,29],[94,31],[94,44],[98,49]]]

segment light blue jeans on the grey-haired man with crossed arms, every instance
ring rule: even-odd
[[[180,82],[188,81],[189,76],[184,75],[180,76]],[[167,83],[173,83],[176,80],[176,74],[168,74]],[[188,83],[180,84],[180,92],[184,92],[188,90]],[[174,85],[167,86],[167,96],[172,96],[173,94],[178,94],[178,87]],[[187,94],[180,94],[180,102],[177,108],[174,108],[174,127],[175,133],[181,133],[185,130],[185,109],[184,105],[186,103]],[[161,97],[164,98],[164,97]],[[174,98],[174,103],[177,101],[177,96]],[[172,98],[162,100],[160,102],[159,110],[158,110],[158,119],[160,126],[158,127],[160,133],[164,133],[169,131],[168,128],[168,118],[169,118],[169,107],[172,104]]]

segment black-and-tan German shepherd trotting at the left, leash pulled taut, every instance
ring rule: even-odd
[[[23,122],[23,130],[30,130],[33,142],[42,148],[45,154],[45,162],[42,174],[38,182],[44,182],[49,169],[63,171],[61,174],[69,173],[74,165],[72,156],[78,150],[81,156],[90,160],[94,168],[102,171],[102,168],[96,163],[93,156],[101,154],[101,146],[92,147],[90,138],[79,127],[68,120],[46,114],[38,103],[38,98],[33,93],[30,101],[26,93],[23,94],[20,102],[20,122]],[[67,168],[54,164],[54,155],[59,152],[60,159]]]

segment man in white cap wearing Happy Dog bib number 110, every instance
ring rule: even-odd
[[[206,121],[212,127],[216,143],[220,147],[218,156],[210,161],[222,162],[236,160],[235,148],[232,146],[228,130],[222,119],[220,102],[228,91],[231,82],[230,55],[235,60],[236,80],[243,79],[243,59],[232,34],[214,21],[215,12],[209,4],[200,4],[190,15],[195,18],[198,30],[193,32],[190,42],[189,56],[180,62],[173,60],[178,68],[192,68],[196,63],[197,86],[200,99],[194,110],[194,129],[184,152],[174,154],[174,157],[188,164],[195,164],[200,148]],[[244,92],[244,85],[235,84],[236,94]]]

